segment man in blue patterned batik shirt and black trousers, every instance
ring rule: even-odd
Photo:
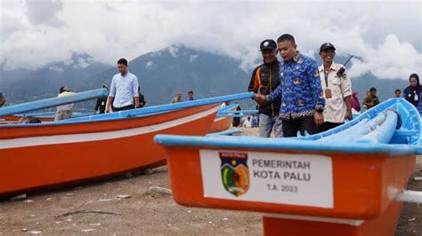
[[[270,95],[256,94],[256,102],[264,104],[281,100],[280,119],[284,137],[296,137],[297,131],[304,135],[317,132],[323,122],[325,105],[320,73],[314,59],[296,50],[292,35],[277,39],[280,56],[280,85]]]

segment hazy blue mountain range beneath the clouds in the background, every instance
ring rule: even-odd
[[[319,60],[319,56],[315,56]],[[337,62],[346,58],[337,57]],[[117,60],[117,59],[116,59]],[[256,61],[259,63],[259,61]],[[321,64],[321,60],[318,62]],[[180,91],[183,99],[193,90],[195,98],[209,98],[244,92],[248,88],[251,71],[239,67],[240,61],[218,53],[198,51],[183,45],[172,45],[161,51],[146,53],[129,62],[129,71],[137,75],[147,106],[169,103]],[[0,67],[0,91],[7,97],[7,104],[57,96],[60,86],[82,91],[110,85],[113,75],[118,73],[110,67],[84,53],[74,53],[67,62],[49,64],[39,70],[24,69],[7,71]],[[361,101],[366,90],[376,87],[381,100],[391,98],[394,90],[403,90],[407,81],[377,79],[373,75],[352,78],[353,90],[357,90]],[[78,109],[93,107],[94,101],[77,104]],[[253,108],[255,103],[245,100],[242,108]]]

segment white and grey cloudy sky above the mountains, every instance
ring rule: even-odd
[[[253,67],[265,38],[295,35],[312,55],[334,43],[353,54],[350,74],[379,78],[422,74],[421,1],[116,1],[0,0],[0,64],[39,68],[72,51],[113,65],[116,59],[174,43],[217,51]]]

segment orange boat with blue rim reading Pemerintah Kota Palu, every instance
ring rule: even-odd
[[[420,131],[418,110],[392,98],[312,136],[155,140],[181,205],[265,212],[265,235],[394,235],[402,201],[422,202],[405,190]]]

